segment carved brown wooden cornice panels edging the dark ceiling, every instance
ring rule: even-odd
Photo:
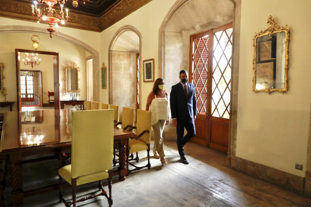
[[[128,16],[151,0],[78,0],[73,8],[72,0],[65,3],[69,20],[64,25],[82,30],[101,32]],[[36,22],[32,17],[32,0],[0,0],[0,17]]]

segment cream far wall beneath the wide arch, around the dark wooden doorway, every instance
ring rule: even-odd
[[[1,50],[0,50],[0,62],[5,63],[3,74],[5,76],[4,86],[7,89],[7,101],[15,101],[13,110],[17,110],[17,88],[16,88],[16,62],[15,62],[15,49],[32,50],[32,41],[30,33],[1,33]],[[80,67],[80,82],[79,88],[81,89],[81,95],[77,98],[79,100],[86,99],[86,61],[85,50],[73,45],[67,41],[53,38],[48,35],[39,35],[40,37],[40,49],[39,51],[58,52],[59,53],[59,89],[64,86],[64,72],[63,67],[69,62],[77,63]],[[16,41],[18,40],[18,41]],[[23,58],[23,57],[21,57]],[[39,66],[38,66],[39,67]],[[52,73],[53,74],[53,73]],[[48,77],[53,83],[53,76]],[[45,92],[45,91],[44,91]],[[43,94],[46,96],[46,94]],[[63,96],[60,94],[60,100],[69,100],[70,95]],[[0,101],[4,101],[4,97],[0,96]],[[6,108],[0,108],[0,112],[7,111]]]

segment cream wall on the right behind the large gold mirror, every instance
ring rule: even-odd
[[[237,156],[305,177],[311,104],[311,1],[242,0],[241,5]],[[252,39],[268,28],[269,15],[291,30],[289,90],[284,94],[252,92]],[[295,163],[303,164],[303,170],[295,170]]]

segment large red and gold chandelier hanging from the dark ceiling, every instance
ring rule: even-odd
[[[38,2],[40,4],[39,6],[37,6]],[[47,31],[49,31],[50,37],[52,38],[57,30],[58,23],[65,24],[68,21],[68,9],[65,10],[66,16],[64,16],[63,11],[65,0],[38,0],[38,2],[34,1],[35,4],[32,5],[33,17],[38,19],[38,23],[46,22],[49,24]],[[59,3],[60,7],[55,6],[56,3]]]

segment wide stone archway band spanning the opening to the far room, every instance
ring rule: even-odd
[[[36,33],[36,34],[44,34],[42,32],[42,28],[40,27],[31,27],[31,26],[0,26],[0,33]],[[55,35],[54,38],[59,38],[62,40],[65,40],[67,42],[70,42],[74,45],[77,45],[84,49],[87,52],[91,53],[91,56],[93,58],[93,99],[96,102],[99,102],[99,52],[96,51],[91,46],[85,44],[79,39],[74,38],[73,36],[66,35],[66,34],[59,34]],[[96,70],[97,69],[97,70]]]

